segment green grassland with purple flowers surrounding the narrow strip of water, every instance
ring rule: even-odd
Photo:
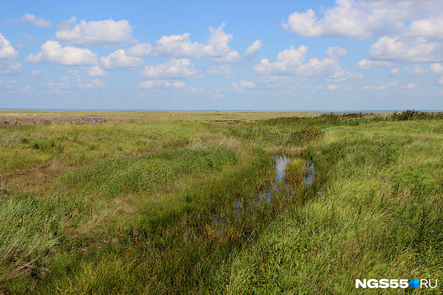
[[[441,113],[0,117],[0,294],[443,291]]]

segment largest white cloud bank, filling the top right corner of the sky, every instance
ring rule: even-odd
[[[336,0],[319,18],[312,9],[294,12],[284,29],[302,36],[343,36],[367,39],[398,32],[409,36],[442,36],[441,1]],[[435,15],[432,12],[436,11]],[[430,16],[428,16],[431,14]],[[410,25],[405,23],[410,22]]]

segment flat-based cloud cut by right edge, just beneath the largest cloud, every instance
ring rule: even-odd
[[[419,38],[381,37],[371,45],[368,57],[377,61],[435,62],[443,61],[443,44]]]

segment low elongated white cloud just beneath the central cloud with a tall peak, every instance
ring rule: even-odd
[[[171,61],[167,61],[161,65],[147,65],[141,73],[149,79],[186,78],[198,74],[197,70],[194,69],[194,65],[191,65],[187,58],[172,58]]]

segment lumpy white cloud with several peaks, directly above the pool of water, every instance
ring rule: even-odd
[[[346,50],[341,47],[329,47],[325,58],[319,61],[311,58],[305,61],[307,47],[302,45],[298,49],[291,46],[277,54],[275,62],[264,58],[254,66],[259,75],[295,75],[299,77],[323,77],[329,80],[361,79],[360,73],[352,74],[340,68],[338,58],[345,56]]]

